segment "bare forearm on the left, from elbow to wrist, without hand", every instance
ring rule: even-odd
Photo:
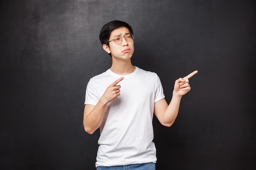
[[[86,113],[85,108],[83,127],[86,132],[92,134],[95,130],[99,128],[99,126],[101,126],[106,106],[107,103],[103,102],[100,99],[96,106],[90,111],[90,113]]]

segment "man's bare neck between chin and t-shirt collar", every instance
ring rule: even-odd
[[[119,75],[128,75],[135,71],[135,66],[132,65],[131,60],[126,60],[123,62],[112,62],[112,66],[110,67],[110,70],[113,73],[119,74]]]

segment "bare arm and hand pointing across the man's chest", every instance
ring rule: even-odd
[[[101,126],[107,104],[120,95],[121,86],[117,84],[123,79],[124,77],[121,77],[110,84],[96,106],[85,104],[83,111],[83,127],[89,134],[93,134],[95,130]]]

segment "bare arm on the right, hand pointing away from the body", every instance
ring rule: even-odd
[[[191,90],[189,78],[196,73],[198,73],[198,71],[193,71],[189,75],[175,81],[173,97],[169,105],[167,104],[166,99],[161,99],[158,102],[155,102],[154,113],[162,125],[167,127],[173,125],[179,112],[182,96]]]

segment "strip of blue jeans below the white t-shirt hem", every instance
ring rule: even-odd
[[[155,163],[141,163],[125,166],[98,166],[97,170],[155,170]]]

